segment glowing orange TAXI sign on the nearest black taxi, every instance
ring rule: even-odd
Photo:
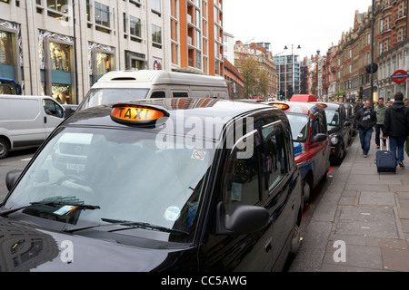
[[[169,112],[152,105],[116,104],[111,111],[111,119],[125,125],[155,124],[164,117],[169,117]]]

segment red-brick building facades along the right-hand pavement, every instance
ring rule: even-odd
[[[374,35],[372,35],[373,7],[364,13],[355,12],[354,26],[344,34],[337,45],[326,53],[323,67],[315,63],[314,69],[324,70],[322,99],[336,102],[361,102],[379,98],[393,100],[395,92],[409,94],[408,82],[397,83],[392,75],[397,70],[409,71],[409,34],[407,0],[375,0]],[[368,73],[372,63],[378,71]],[[370,71],[369,71],[370,72]],[[374,94],[371,95],[374,87]],[[325,93],[327,92],[327,93]]]

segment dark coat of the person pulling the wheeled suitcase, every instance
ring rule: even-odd
[[[407,137],[409,135],[409,109],[404,106],[404,102],[395,101],[386,110],[384,116],[384,136],[385,137]]]

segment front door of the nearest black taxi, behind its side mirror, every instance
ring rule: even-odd
[[[241,131],[241,128],[235,131]],[[250,153],[247,155],[243,144],[250,140],[254,147],[247,151]],[[226,215],[232,214],[234,208],[240,206],[265,207],[261,146],[258,131],[253,131],[234,142],[232,150],[225,150],[226,156],[219,170],[220,192],[214,198],[217,208],[223,208]],[[269,272],[273,260],[272,243],[271,224],[246,235],[222,235],[210,231],[200,247],[200,270]]]

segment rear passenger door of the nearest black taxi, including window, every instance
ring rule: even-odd
[[[270,213],[273,237],[270,251],[273,270],[281,271],[291,248],[298,208],[301,204],[301,187],[298,170],[295,170],[291,134],[283,121],[274,121],[262,128],[264,140],[264,192],[265,208]]]

